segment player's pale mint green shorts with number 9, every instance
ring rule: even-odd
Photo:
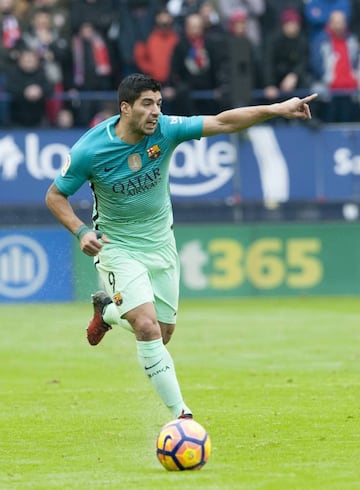
[[[158,321],[176,323],[180,262],[175,241],[154,251],[104,244],[95,266],[121,316],[136,306],[154,303]]]

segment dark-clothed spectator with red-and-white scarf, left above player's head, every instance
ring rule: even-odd
[[[84,22],[72,38],[73,89],[84,92],[112,89],[110,53],[103,36],[89,23]],[[80,100],[74,104],[75,125],[88,126],[100,110],[100,99]]]

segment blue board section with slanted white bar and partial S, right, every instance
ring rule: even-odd
[[[239,146],[244,201],[360,199],[360,126],[256,126]]]

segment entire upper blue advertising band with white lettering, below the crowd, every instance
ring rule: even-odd
[[[39,204],[84,130],[0,132],[0,205]],[[179,145],[174,201],[360,200],[360,125],[254,126]],[[83,186],[74,201],[91,201]]]

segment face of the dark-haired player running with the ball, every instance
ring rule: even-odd
[[[129,129],[143,136],[153,134],[158,124],[161,102],[160,92],[142,92],[133,106],[129,107]]]

